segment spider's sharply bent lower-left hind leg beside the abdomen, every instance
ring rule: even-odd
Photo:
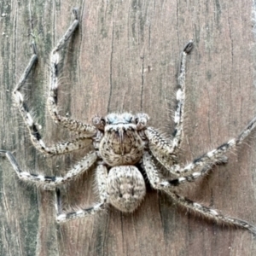
[[[107,194],[107,178],[108,178],[108,170],[106,166],[99,165],[96,168],[96,182],[99,190],[100,201],[96,203],[96,205],[92,207],[87,207],[85,209],[80,209],[75,212],[62,212],[61,210],[61,192],[59,189],[56,189],[56,203],[55,208],[57,212],[57,222],[63,223],[76,218],[84,218],[96,212],[102,211],[107,204],[108,194]]]

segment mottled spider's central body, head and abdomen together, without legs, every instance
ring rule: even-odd
[[[146,195],[143,175],[136,165],[147,145],[144,129],[147,114],[110,113],[106,118],[95,117],[93,123],[101,133],[99,157],[110,167],[107,178],[108,201],[122,212],[133,212]]]

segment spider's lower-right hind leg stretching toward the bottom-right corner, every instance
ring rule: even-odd
[[[191,201],[186,197],[177,195],[176,192],[172,191],[172,184],[170,184],[168,180],[160,177],[148,152],[143,155],[143,164],[151,186],[154,189],[165,191],[166,194],[170,195],[172,197],[172,200],[175,201],[178,205],[185,207],[186,209],[192,210],[193,212],[199,213],[201,214],[201,216],[211,219],[218,224],[234,225],[236,227],[247,229],[251,231],[254,235],[256,235],[256,227],[253,226],[253,224],[249,224],[247,221],[238,218],[225,216],[222,213],[218,212],[218,210],[204,207],[195,201]]]

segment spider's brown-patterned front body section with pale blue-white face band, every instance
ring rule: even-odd
[[[143,156],[145,142],[141,131],[146,128],[148,115],[139,113],[109,113],[95,117],[93,124],[102,131],[99,152],[109,166],[133,165]]]

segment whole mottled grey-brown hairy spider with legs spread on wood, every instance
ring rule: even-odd
[[[26,182],[38,183],[44,189],[55,189],[56,220],[58,223],[63,223],[100,212],[109,204],[121,212],[134,212],[146,194],[145,180],[142,172],[139,171],[143,169],[150,185],[154,189],[166,192],[178,205],[200,213],[202,216],[217,223],[235,225],[236,227],[250,230],[256,235],[256,227],[247,223],[247,221],[225,216],[217,210],[190,201],[188,198],[177,195],[177,192],[173,189],[181,184],[194,182],[197,178],[205,176],[212,169],[212,166],[226,162],[225,154],[242,143],[256,125],[256,118],[254,118],[237,138],[231,139],[207,154],[202,154],[186,166],[178,164],[177,154],[183,139],[185,63],[186,56],[193,48],[193,41],[191,40],[185,45],[181,55],[177,79],[175,131],[172,141],[167,140],[159,131],[147,125],[149,118],[146,113],[137,113],[136,115],[131,113],[109,113],[106,117],[93,117],[92,125],[87,125],[61,116],[57,108],[60,50],[73,35],[77,26],[79,26],[78,10],[73,9],[73,14],[73,24],[67,29],[67,32],[50,55],[50,83],[47,106],[55,123],[61,125],[67,131],[77,132],[77,138],[69,142],[56,143],[50,147],[46,146],[38,131],[38,125],[35,124],[26,107],[20,90],[38,60],[35,44],[32,44],[32,58],[19,83],[15,86],[13,96],[15,104],[19,108],[28,128],[32,143],[39,151],[48,155],[66,154],[73,150],[85,148],[90,143],[92,143],[95,150],[86,154],[82,160],[79,160],[64,177],[49,177],[22,171],[15,160],[15,156],[9,151],[1,149],[0,155],[7,157],[18,177]],[[100,202],[79,211],[62,212],[61,195],[58,186],[73,180],[95,164],[96,184]],[[138,168],[138,166],[141,166],[141,168]],[[167,172],[175,175],[176,178],[165,177],[164,172],[160,172],[157,166],[161,166],[161,169],[164,168]]]

